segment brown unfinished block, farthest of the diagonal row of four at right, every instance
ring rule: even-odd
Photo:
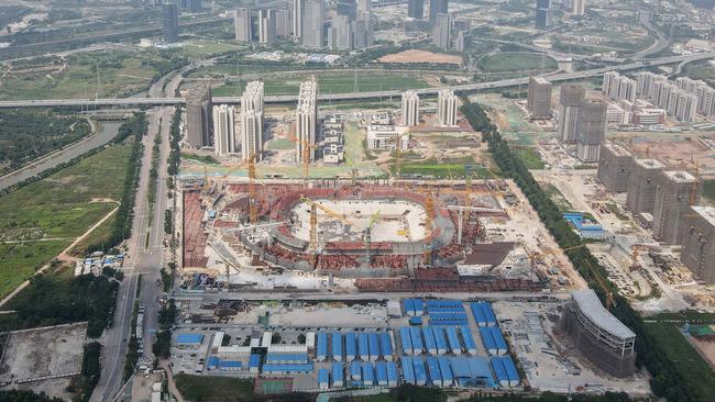
[[[634,169],[634,157],[618,144],[605,142],[601,147],[598,174],[596,178],[604,185],[606,191],[626,192],[630,185],[630,172]]]

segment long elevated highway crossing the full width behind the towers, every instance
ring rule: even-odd
[[[574,72],[560,72],[549,76],[551,82],[570,81],[575,79],[584,79],[590,77],[602,76],[607,71],[629,71],[637,70],[648,66],[662,66],[676,63],[690,63],[715,58],[715,53],[698,53],[685,56],[667,56],[658,57],[646,60],[630,62],[614,66],[592,68]],[[491,82],[476,82],[451,86],[449,88],[458,92],[473,92],[487,89],[510,88],[528,83],[528,77],[504,79]],[[419,94],[437,94],[439,87],[418,89]],[[339,100],[358,100],[358,99],[375,99],[375,98],[391,98],[399,97],[402,90],[389,91],[372,91],[372,92],[346,92],[346,93],[323,93],[318,94],[318,100],[321,101],[339,101]],[[173,92],[168,92],[173,93]],[[288,103],[295,102],[298,94],[286,96],[266,96],[266,103]],[[53,108],[53,107],[173,107],[184,103],[184,98],[169,98],[169,97],[148,97],[148,98],[109,98],[109,99],[43,99],[43,100],[19,100],[19,101],[1,101],[0,109],[4,108]],[[213,97],[213,103],[228,103],[238,104],[241,102],[240,97]]]

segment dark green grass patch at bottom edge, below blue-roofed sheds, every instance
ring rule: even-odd
[[[253,401],[253,382],[228,377],[174,377],[176,388],[187,401]]]

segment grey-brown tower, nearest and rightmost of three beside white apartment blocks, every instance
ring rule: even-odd
[[[606,102],[584,99],[579,107],[576,155],[581,161],[598,161],[606,138]]]

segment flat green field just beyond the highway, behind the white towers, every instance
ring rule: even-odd
[[[265,82],[266,94],[294,94],[300,90],[300,82],[304,78],[284,78],[276,80],[268,80]],[[217,97],[239,96],[243,92],[245,81],[231,82],[221,87],[211,89],[211,93]],[[359,74],[355,83],[352,74],[318,77],[318,92],[320,93],[344,93],[353,92],[356,89],[359,92],[383,91],[393,89],[419,89],[427,88],[429,85],[419,78],[402,77],[402,76],[375,76],[367,74]]]

